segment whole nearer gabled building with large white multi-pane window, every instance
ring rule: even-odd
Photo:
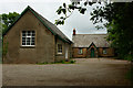
[[[28,7],[3,33],[3,63],[53,63],[71,57],[72,42],[51,22]]]

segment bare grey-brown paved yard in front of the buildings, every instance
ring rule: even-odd
[[[76,58],[75,64],[2,66],[4,86],[130,86],[130,63],[112,58]]]

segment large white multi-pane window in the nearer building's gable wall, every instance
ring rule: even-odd
[[[22,31],[22,46],[34,46],[34,45],[35,45],[35,32]]]

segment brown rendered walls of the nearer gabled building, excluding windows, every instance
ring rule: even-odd
[[[21,45],[22,31],[35,31],[35,46]],[[7,32],[3,41],[8,43],[8,53],[3,57],[3,63],[32,64],[65,61],[65,46],[68,46],[68,59],[71,57],[71,43],[65,43],[53,35],[30,10]],[[57,53],[57,44],[62,44],[63,50],[60,55]]]

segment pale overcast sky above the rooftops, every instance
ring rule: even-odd
[[[55,11],[63,2],[70,3],[69,0],[0,0],[0,14],[9,12],[21,13],[30,6],[42,16],[54,23],[54,20],[59,19]],[[95,25],[90,21],[90,12],[93,7],[88,7],[85,14],[80,14],[79,11],[74,11],[72,15],[66,19],[65,24],[58,25],[58,28],[70,40],[72,38],[73,28],[75,28],[78,34],[106,33],[105,29],[96,30]]]

